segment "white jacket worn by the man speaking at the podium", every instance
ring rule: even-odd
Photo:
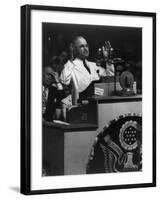
[[[78,92],[84,91],[92,81],[99,80],[99,76],[106,76],[105,69],[98,67],[96,63],[85,60],[90,69],[89,73],[83,65],[83,61],[76,58],[68,61],[64,65],[60,80],[63,84],[69,85],[73,81],[74,87]],[[97,73],[99,71],[99,74]]]

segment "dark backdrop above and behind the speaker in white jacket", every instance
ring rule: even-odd
[[[125,61],[134,74],[138,87],[142,88],[142,28],[98,26],[80,24],[42,23],[43,66],[63,51],[77,35],[83,36],[90,49],[89,60],[95,61],[97,50],[105,41],[110,41],[118,57]],[[129,65],[128,65],[129,63]]]

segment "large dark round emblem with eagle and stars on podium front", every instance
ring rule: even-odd
[[[129,113],[110,121],[97,135],[87,173],[142,170],[142,117]]]

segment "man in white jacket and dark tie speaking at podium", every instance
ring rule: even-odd
[[[76,104],[78,98],[91,96],[93,83],[99,81],[101,76],[106,76],[104,68],[97,66],[94,62],[87,60],[89,47],[82,36],[78,36],[72,43],[73,56],[65,65],[61,73],[61,82],[65,85],[72,84],[74,88],[73,102]],[[76,99],[76,100],[75,100]]]

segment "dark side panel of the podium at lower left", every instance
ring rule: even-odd
[[[60,128],[43,126],[43,175],[64,174],[64,133]]]

